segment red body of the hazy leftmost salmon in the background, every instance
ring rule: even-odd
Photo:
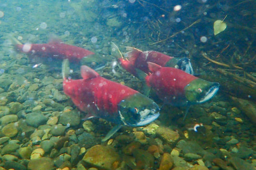
[[[89,50],[74,45],[68,45],[63,42],[49,42],[47,44],[17,44],[16,50],[24,52],[31,56],[52,57],[57,59],[69,59],[78,62],[87,55],[94,54]]]

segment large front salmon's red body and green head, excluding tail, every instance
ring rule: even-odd
[[[81,80],[64,78],[63,81],[64,93],[79,110],[129,126],[146,125],[159,116],[156,103],[138,91],[100,77],[85,65],[81,67],[81,74]]]

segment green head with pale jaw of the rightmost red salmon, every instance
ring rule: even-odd
[[[210,100],[219,90],[218,82],[209,82],[197,78],[184,87],[187,100],[191,103],[203,103]]]

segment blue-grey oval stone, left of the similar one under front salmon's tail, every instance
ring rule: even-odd
[[[26,115],[26,123],[35,128],[37,128],[39,125],[45,124],[46,121],[47,118],[41,113],[31,112]]]

